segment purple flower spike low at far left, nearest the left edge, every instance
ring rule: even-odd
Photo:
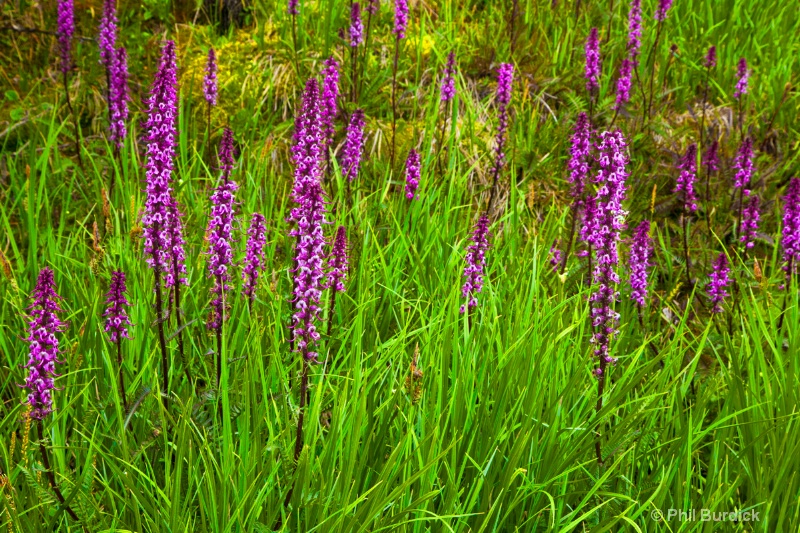
[[[65,324],[58,318],[62,311],[56,294],[53,271],[45,267],[39,272],[36,287],[31,294],[30,322],[28,323],[28,377],[24,388],[28,389],[30,416],[42,420],[53,412],[53,379],[58,359],[58,338],[56,334],[64,331]]]

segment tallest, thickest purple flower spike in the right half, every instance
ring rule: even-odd
[[[627,215],[622,208],[626,195],[625,180],[628,177],[625,168],[628,164],[626,148],[625,137],[619,130],[605,131],[600,135],[597,146],[599,169],[593,179],[597,184],[596,225],[590,239],[595,251],[592,274],[596,288],[590,301],[592,326],[595,328],[592,343],[595,345],[594,354],[600,360],[600,366],[595,371],[598,377],[603,376],[607,364],[616,362],[609,355],[609,345],[619,321],[614,303],[617,301],[616,284],[619,283],[616,272],[619,264],[617,247]]]

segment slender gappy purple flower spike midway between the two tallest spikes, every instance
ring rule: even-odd
[[[211,293],[215,295],[211,302],[213,313],[208,323],[209,329],[219,330],[225,321],[225,293],[230,290],[231,276],[228,270],[233,262],[231,234],[233,230],[233,208],[235,194],[239,186],[230,179],[233,170],[233,132],[225,128],[219,149],[219,161],[222,175],[220,182],[211,194],[211,216],[208,220],[208,274],[214,279]]]

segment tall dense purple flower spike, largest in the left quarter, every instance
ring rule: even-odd
[[[167,41],[147,99],[148,118],[145,123],[147,199],[142,217],[144,251],[147,264],[156,271],[157,276],[169,272],[171,264],[168,226],[173,202],[170,182],[177,137],[176,85],[175,43]]]

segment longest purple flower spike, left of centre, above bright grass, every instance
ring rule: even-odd
[[[289,219],[297,224],[290,232],[296,238],[294,273],[294,308],[292,340],[295,349],[307,360],[316,360],[313,347],[319,340],[315,321],[319,316],[324,273],[322,260],[325,238],[325,194],[321,179],[321,112],[319,85],[311,78],[306,83],[303,106],[295,122],[293,148],[295,182],[292,198],[296,204]]]

